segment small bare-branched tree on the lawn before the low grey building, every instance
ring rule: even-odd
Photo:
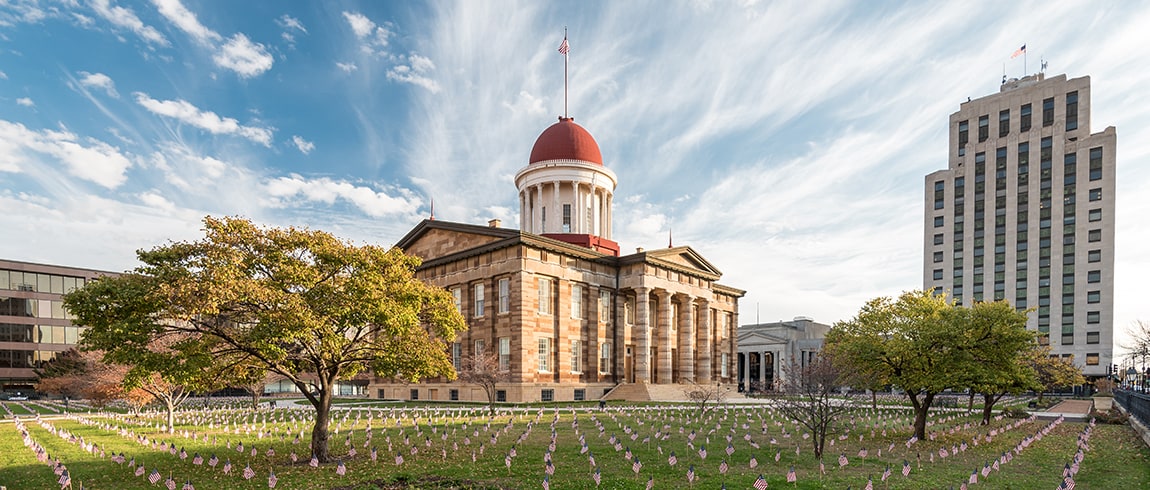
[[[774,397],[774,407],[811,431],[814,459],[821,459],[827,435],[836,429],[835,422],[853,409],[849,400],[835,397],[842,385],[842,372],[826,353],[806,366],[792,362],[783,369],[787,377]]]

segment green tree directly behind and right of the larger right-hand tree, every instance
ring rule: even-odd
[[[1007,393],[1037,389],[1034,369],[1026,354],[1037,346],[1034,332],[1026,329],[1026,313],[1006,301],[975,303],[957,308],[957,321],[967,326],[971,361],[965,383],[982,395],[982,424],[990,423],[994,406]]]

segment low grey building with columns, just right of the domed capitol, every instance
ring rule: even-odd
[[[785,380],[788,366],[804,367],[814,360],[828,331],[830,326],[807,316],[739,327],[738,390],[776,390]]]

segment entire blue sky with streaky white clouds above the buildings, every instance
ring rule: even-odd
[[[1109,1],[0,0],[0,257],[123,270],[208,214],[390,245],[432,199],[518,223],[567,26],[622,250],[673,231],[747,290],[741,323],[830,323],[922,286],[948,116],[1041,56],[1118,128],[1120,331],[1150,319],[1145,25]]]

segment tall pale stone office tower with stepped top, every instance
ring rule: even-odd
[[[922,283],[1010,301],[1087,376],[1112,362],[1114,128],[1090,132],[1090,77],[1006,81],[950,115],[926,177]]]

